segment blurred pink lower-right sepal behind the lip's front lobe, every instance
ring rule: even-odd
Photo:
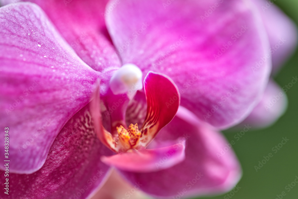
[[[238,183],[241,176],[239,162],[221,133],[199,123],[190,111],[179,109],[152,144],[159,145],[178,137],[186,140],[183,162],[157,172],[122,174],[131,183],[141,183],[142,191],[167,198],[179,196],[181,192],[183,198],[219,194]]]

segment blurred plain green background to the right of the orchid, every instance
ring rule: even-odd
[[[298,0],[276,0],[279,6],[296,24],[298,24]],[[283,87],[288,84],[292,76],[298,75],[298,52],[284,64],[280,72],[274,77],[275,81]],[[290,192],[285,186],[298,176],[298,85],[288,90],[288,109],[273,126],[261,130],[249,130],[236,141],[233,146],[243,168],[243,177],[238,183],[241,189],[235,193],[233,199],[275,199],[285,191],[284,199],[298,199],[298,183]],[[226,138],[234,140],[239,132],[227,130]],[[254,166],[262,161],[263,156],[272,153],[272,147],[279,144],[283,137],[289,139],[273,157],[256,172]],[[230,196],[231,197],[231,196]],[[212,199],[229,198],[223,194]],[[202,198],[201,198],[202,199]],[[210,199],[210,197],[209,197]]]

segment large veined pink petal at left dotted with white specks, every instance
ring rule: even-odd
[[[40,169],[64,124],[92,96],[98,72],[67,48],[37,5],[0,8],[0,124],[10,129],[11,172]]]

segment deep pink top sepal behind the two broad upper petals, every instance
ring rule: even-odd
[[[44,10],[77,55],[94,70],[108,72],[121,66],[105,27],[108,0],[29,1]],[[103,83],[108,81],[102,81],[101,85],[105,87]]]

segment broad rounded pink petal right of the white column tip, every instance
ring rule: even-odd
[[[106,16],[106,24],[123,64],[136,64],[143,74],[152,70],[168,75],[179,88],[182,106],[225,128],[243,120],[260,100],[271,61],[252,70],[269,53],[254,5],[222,2],[127,0]],[[202,19],[205,14],[209,16]],[[215,58],[224,46],[228,50]],[[233,88],[237,91],[225,97]]]

